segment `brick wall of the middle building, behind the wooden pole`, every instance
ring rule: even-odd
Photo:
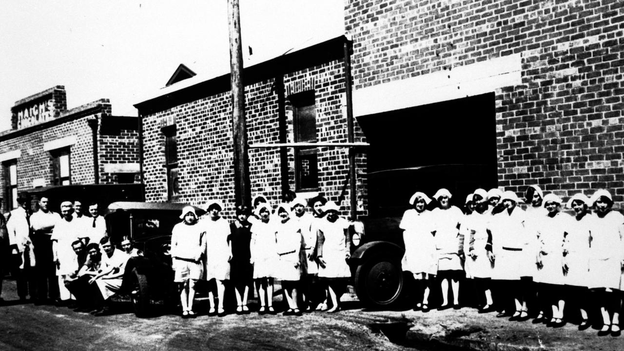
[[[290,72],[283,76],[288,120],[288,142],[293,142],[293,109],[288,96],[314,90],[316,102],[317,140],[346,142],[346,102],[344,100],[343,62],[329,61],[318,66]],[[225,202],[225,215],[233,216],[232,117],[230,92],[220,92],[197,101],[180,104],[160,112],[145,115],[144,174],[146,199],[167,200],[165,137],[163,126],[175,121],[178,138],[180,169],[180,201],[203,205],[211,197]],[[246,119],[249,144],[277,143],[278,95],[275,79],[265,79],[245,87]],[[363,141],[358,130],[356,141]],[[293,149],[288,149],[291,189],[295,189]],[[281,197],[279,149],[250,149],[251,193],[266,194],[273,204]],[[363,174],[365,158],[358,157],[359,174]],[[348,179],[346,149],[318,149],[319,191],[329,200],[338,200],[344,180]],[[347,183],[348,184],[348,183]],[[366,212],[364,188],[358,182],[358,212]],[[348,214],[349,192],[343,202]]]

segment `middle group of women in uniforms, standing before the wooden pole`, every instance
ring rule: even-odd
[[[273,308],[273,282],[280,280],[285,301],[285,315],[301,315],[303,309],[339,310],[341,287],[351,273],[346,260],[349,257],[349,222],[339,217],[339,207],[323,197],[310,201],[312,213],[306,212],[306,200],[295,198],[273,207],[264,195],[252,200],[252,208],[236,207],[233,225],[220,216],[221,202],[208,202],[207,216],[197,218],[193,207],[183,209],[183,221],[173,229],[172,257],[176,282],[180,284],[182,317],[194,317],[192,291],[199,279],[215,280],[217,289],[210,289],[208,315],[225,315],[223,294],[227,280],[235,279],[237,313],[248,313],[247,287],[253,282],[258,290],[260,314],[275,314]],[[187,221],[187,217],[192,220]],[[180,228],[196,227],[180,234]],[[238,231],[248,233],[248,239],[235,239]],[[235,233],[236,232],[236,233]],[[197,240],[197,235],[202,239]],[[184,249],[181,240],[187,242]],[[236,250],[233,242],[248,240],[248,250]],[[200,257],[191,252],[200,252]],[[246,256],[248,255],[248,257]],[[195,269],[189,269],[184,261],[191,260]],[[246,270],[250,264],[251,271]],[[200,269],[201,267],[201,269]],[[187,274],[183,274],[187,272]],[[193,273],[194,272],[194,273]],[[236,272],[236,274],[234,274]],[[318,291],[316,277],[323,280],[324,298],[315,301]],[[216,294],[215,291],[216,290]],[[215,305],[214,297],[218,297]],[[322,301],[322,302],[321,302]]]

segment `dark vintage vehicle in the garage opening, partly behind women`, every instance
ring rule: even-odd
[[[494,177],[492,177],[492,174]],[[451,204],[462,207],[475,189],[496,185],[496,172],[482,164],[443,164],[369,172],[369,215],[351,229],[353,253],[348,260],[353,284],[361,302],[369,308],[388,309],[409,294],[401,269],[405,252],[402,214],[416,191],[433,195],[446,188]],[[436,202],[429,204],[430,209]]]

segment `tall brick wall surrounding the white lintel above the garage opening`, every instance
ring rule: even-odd
[[[345,1],[354,89],[521,54],[495,89],[499,185],[624,195],[624,2]]]

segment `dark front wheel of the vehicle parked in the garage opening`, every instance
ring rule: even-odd
[[[395,304],[401,298],[403,284],[401,265],[390,257],[376,255],[356,269],[356,294],[366,307],[382,309]]]

